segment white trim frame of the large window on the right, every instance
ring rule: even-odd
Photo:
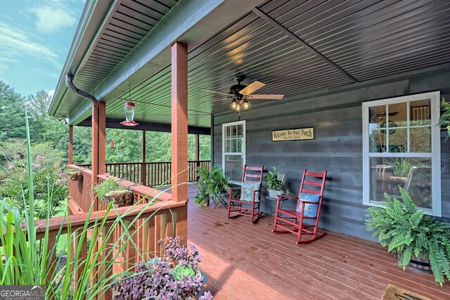
[[[440,92],[434,91],[430,93],[420,93],[416,95],[401,96],[395,98],[388,98],[383,100],[375,100],[363,103],[363,204],[375,207],[383,206],[382,202],[370,202],[370,157],[369,157],[369,143],[368,143],[368,124],[369,114],[368,107],[376,105],[387,105],[392,103],[401,103],[413,100],[430,99],[431,103],[431,146],[432,152],[423,155],[408,153],[410,157],[430,157],[432,167],[432,210],[425,211],[425,214],[432,216],[442,216],[442,192],[441,192],[441,132],[440,127],[437,126],[439,119],[439,100]],[[404,153],[377,153],[379,157],[401,157]]]

